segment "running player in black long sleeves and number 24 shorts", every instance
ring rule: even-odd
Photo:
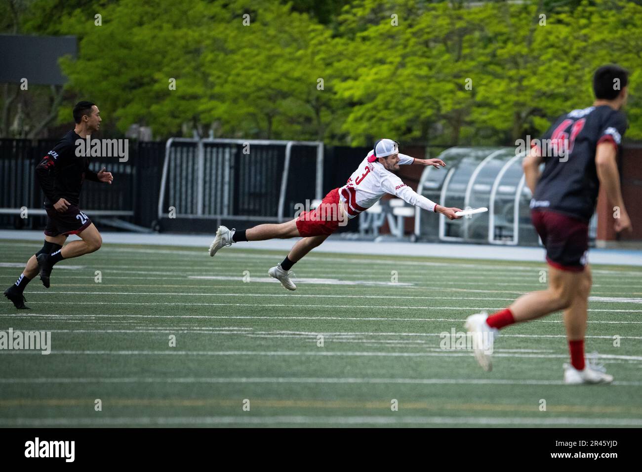
[[[89,216],[80,211],[80,189],[85,179],[112,183],[110,172],[89,170],[89,158],[76,153],[76,141],[100,128],[100,111],[89,101],[77,103],[73,110],[76,127],[65,134],[36,167],[36,177],[45,195],[47,224],[44,245],[27,262],[24,271],[4,296],[15,308],[24,309],[24,288],[40,273],[42,284],[49,288],[49,276],[55,263],[76,258],[100,249],[102,238]],[[69,234],[78,234],[80,241],[63,247]]]

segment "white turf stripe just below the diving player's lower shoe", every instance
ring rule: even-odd
[[[193,278],[193,277],[189,277]],[[301,279],[304,280],[304,279]],[[271,279],[273,282],[278,282]],[[392,283],[386,283],[392,284]],[[394,285],[394,284],[393,284]],[[187,297],[312,297],[312,298],[365,298],[365,299],[390,299],[403,298],[412,300],[499,300],[513,301],[512,298],[496,297],[419,297],[413,295],[324,295],[324,294],[295,294],[295,293],[186,293],[186,292],[51,292],[64,293],[65,295],[185,295]],[[31,292],[31,294],[49,295],[49,292]],[[619,302],[619,303],[642,303],[637,298],[616,298],[616,297],[589,297],[594,302]]]

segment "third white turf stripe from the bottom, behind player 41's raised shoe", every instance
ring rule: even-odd
[[[442,351],[442,349],[440,349]],[[40,351],[12,350],[0,351],[0,355],[40,355]],[[57,351],[51,354],[68,355],[118,355],[118,356],[363,356],[363,357],[469,357],[472,351],[466,352],[422,352],[422,353],[376,353],[376,352],[351,352],[351,351]],[[568,354],[519,354],[519,353],[493,353],[495,357],[523,357],[537,359],[568,359]],[[597,354],[596,358],[605,360],[642,361],[642,356],[620,356],[616,354]]]

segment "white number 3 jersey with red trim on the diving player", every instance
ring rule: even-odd
[[[345,203],[342,207],[347,210],[348,218],[354,218],[362,211],[369,209],[386,193],[395,195],[415,207],[435,211],[437,206],[435,202],[417,194],[379,162],[368,162],[368,158],[373,153],[374,151],[368,153],[357,170],[352,173],[347,184],[339,189],[339,198],[342,204]],[[399,164],[412,164],[414,160],[409,155],[399,153]]]

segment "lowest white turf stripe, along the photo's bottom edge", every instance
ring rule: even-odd
[[[584,417],[483,417],[483,416],[173,416],[173,417],[82,417],[82,418],[12,418],[0,419],[3,426],[66,426],[116,424],[573,424],[605,426],[641,426],[642,419]]]

